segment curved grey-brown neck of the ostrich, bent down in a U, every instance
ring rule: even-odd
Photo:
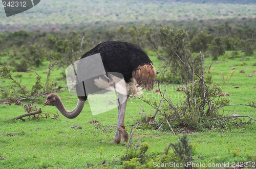
[[[69,110],[66,110],[65,107],[63,106],[63,103],[61,101],[58,102],[57,105],[55,105],[57,107],[57,109],[61,112],[61,114],[63,116],[65,116],[66,118],[69,118],[69,119],[74,119],[76,118],[80,112],[82,111],[82,108],[84,106],[84,103],[85,101],[83,100],[79,100],[77,101],[77,105],[76,107],[72,110],[72,111],[69,111]]]

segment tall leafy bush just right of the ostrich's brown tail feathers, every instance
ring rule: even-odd
[[[198,60],[200,59],[198,54],[195,56],[187,55],[187,53],[191,53],[188,32],[184,30],[174,31],[168,26],[160,27],[154,37],[165,54],[163,57],[160,55],[159,57],[166,62],[158,79],[177,83],[180,82],[177,77],[181,76],[182,79],[186,80],[184,83],[191,81],[193,79],[193,69],[190,68],[190,65],[197,72],[201,62]]]

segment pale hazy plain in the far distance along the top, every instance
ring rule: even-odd
[[[165,26],[173,26],[181,21],[212,20],[211,23],[215,23],[218,19],[255,18],[255,7],[255,2],[231,4],[219,3],[219,1],[205,1],[205,3],[185,1],[183,3],[182,1],[153,0],[44,0],[34,8],[10,17],[6,17],[4,8],[0,8],[0,32],[20,29],[49,32],[78,28],[84,31],[90,27],[111,30],[121,24],[151,22]]]

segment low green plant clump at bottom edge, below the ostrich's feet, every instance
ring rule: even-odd
[[[156,164],[169,163],[187,163],[193,160],[192,155],[195,150],[186,134],[179,137],[178,143],[170,143],[164,153],[157,156],[146,155],[149,146],[146,143],[132,145],[128,156],[121,158],[122,168],[155,168]],[[173,151],[169,149],[172,148]],[[153,162],[154,161],[154,162]],[[163,166],[164,167],[164,166]],[[191,168],[187,166],[185,168]]]

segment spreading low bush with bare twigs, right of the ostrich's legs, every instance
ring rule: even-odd
[[[183,88],[186,96],[181,104],[174,105],[169,99],[164,98],[162,102],[151,102],[149,99],[143,99],[159,113],[154,118],[152,127],[162,130],[173,130],[172,127],[189,127],[191,129],[203,130],[210,128],[209,119],[220,117],[219,108],[228,105],[229,100],[220,96],[221,88],[198,79],[189,82],[186,88]]]

